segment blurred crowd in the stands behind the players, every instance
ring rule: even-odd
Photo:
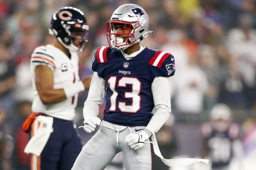
[[[200,134],[190,138],[191,126],[200,133],[200,124],[208,121],[218,103],[230,107],[244,154],[256,150],[256,0],[0,0],[0,170],[29,167],[28,155],[23,153],[27,136],[21,126],[31,113],[30,56],[35,47],[52,42],[48,27],[53,12],[74,6],[88,20],[89,47],[79,53],[84,78],[92,74],[95,49],[108,45],[106,21],[126,3],[142,6],[150,18],[154,34],[141,45],[175,57],[176,73],[170,80],[175,123],[159,132],[170,135],[159,139],[163,145],[170,142],[170,152],[163,155],[200,156],[199,150],[189,152],[201,142]],[[86,97],[84,92],[78,99],[80,124]],[[84,131],[80,134],[84,142],[90,138]],[[181,139],[191,139],[191,144],[178,146],[184,143]],[[256,162],[256,153],[251,157]]]

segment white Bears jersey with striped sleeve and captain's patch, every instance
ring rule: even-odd
[[[78,94],[62,102],[44,105],[40,100],[35,84],[35,68],[39,65],[46,65],[52,69],[54,89],[64,88],[78,82],[80,80],[78,76],[78,55],[76,52],[71,51],[70,54],[71,58],[69,59],[66,54],[53,45],[37,47],[32,53],[30,72],[34,91],[32,104],[34,113],[42,112],[65,120],[74,119]]]

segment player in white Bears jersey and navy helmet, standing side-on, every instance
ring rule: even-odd
[[[34,113],[23,129],[31,137],[24,152],[32,153],[33,170],[70,170],[82,149],[73,119],[78,93],[89,89],[91,77],[79,80],[76,52],[85,49],[88,31],[82,11],[60,8],[49,29],[56,39],[32,53]]]

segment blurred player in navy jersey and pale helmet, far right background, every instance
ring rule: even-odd
[[[209,158],[212,170],[233,170],[231,162],[239,164],[242,156],[239,127],[232,121],[232,112],[226,104],[216,104],[210,111],[210,122],[202,125],[202,158]],[[235,170],[241,170],[240,165]]]

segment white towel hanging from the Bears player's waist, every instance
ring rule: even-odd
[[[50,134],[53,132],[53,117],[39,115],[34,121],[34,124],[32,124],[32,126],[34,126],[34,128],[32,128],[34,136],[28,141],[24,152],[26,154],[32,153],[36,156],[40,156]],[[40,126],[38,127],[39,123]]]

